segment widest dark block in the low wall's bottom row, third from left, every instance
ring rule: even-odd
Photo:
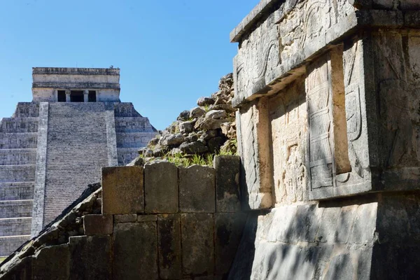
[[[117,223],[113,232],[113,279],[158,279],[156,222]]]

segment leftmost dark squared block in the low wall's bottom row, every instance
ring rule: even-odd
[[[34,255],[34,279],[69,279],[69,244],[42,248]]]

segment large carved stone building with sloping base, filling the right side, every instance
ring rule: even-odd
[[[251,212],[229,278],[416,278],[420,2],[262,0],[230,38]]]

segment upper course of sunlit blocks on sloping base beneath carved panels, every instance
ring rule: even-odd
[[[374,239],[372,219],[377,203],[346,207],[318,207],[318,204],[279,207],[262,221],[270,225],[258,232],[257,239],[297,244],[366,244]]]

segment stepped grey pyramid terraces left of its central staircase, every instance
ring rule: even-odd
[[[0,257],[12,253],[31,232],[38,104],[19,103],[0,122]]]

